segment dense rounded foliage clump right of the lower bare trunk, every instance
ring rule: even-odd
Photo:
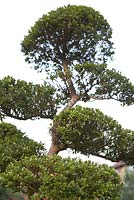
[[[123,129],[100,110],[76,106],[56,118],[61,144],[85,155],[134,162],[134,131]]]

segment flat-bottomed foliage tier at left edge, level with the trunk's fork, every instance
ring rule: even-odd
[[[55,89],[47,84],[33,85],[8,76],[0,80],[0,116],[20,120],[53,118],[57,112]]]

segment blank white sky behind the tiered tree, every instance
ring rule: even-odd
[[[75,4],[86,5],[100,11],[113,29],[115,44],[114,61],[110,67],[121,71],[134,82],[134,3],[133,0],[3,0],[0,3],[0,78],[10,75],[15,78],[41,83],[43,74],[37,74],[25,63],[20,43],[28,29],[44,13],[57,7]],[[85,104],[84,104],[85,105]],[[134,106],[121,107],[114,101],[97,101],[85,106],[100,108],[112,116],[124,128],[134,130]],[[17,121],[14,123],[27,135],[37,141],[43,141],[49,148],[50,136],[47,134],[50,120]],[[69,153],[66,153],[69,155]],[[103,161],[102,161],[103,162]]]

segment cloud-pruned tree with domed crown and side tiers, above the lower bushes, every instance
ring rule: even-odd
[[[50,162],[55,154],[71,148],[85,155],[134,163],[133,131],[123,129],[99,110],[74,107],[78,101],[91,99],[114,99],[122,105],[133,104],[132,83],[120,72],[107,67],[114,53],[111,37],[112,29],[107,20],[93,8],[70,5],[58,8],[43,15],[21,43],[26,61],[36,70],[46,72],[44,85],[12,77],[0,81],[2,119],[9,116],[21,120],[53,120],[52,144],[48,152]],[[62,108],[60,114],[56,114],[58,108]]]

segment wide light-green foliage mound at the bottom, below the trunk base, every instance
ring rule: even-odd
[[[59,156],[31,156],[11,163],[2,181],[33,198],[119,199],[120,178],[112,168]]]

